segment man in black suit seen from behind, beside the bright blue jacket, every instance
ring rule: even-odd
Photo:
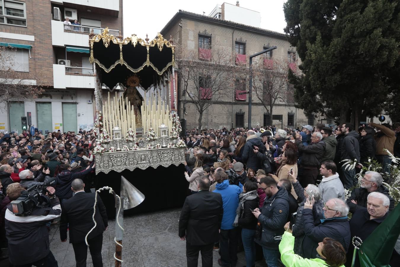
[[[179,237],[182,241],[186,237],[188,267],[197,267],[199,251],[202,266],[212,266],[212,249],[224,214],[221,195],[208,191],[210,179],[202,176],[199,180],[198,193],[186,197],[179,219]]]

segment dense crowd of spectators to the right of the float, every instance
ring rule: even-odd
[[[202,266],[212,266],[213,249],[226,267],[236,266],[238,249],[247,267],[261,255],[268,267],[351,266],[352,237],[365,240],[394,209],[382,174],[390,173],[389,153],[400,154],[400,127],[192,129],[185,143],[192,195],[179,237],[186,239],[188,266],[197,266],[199,251]],[[382,173],[366,171],[357,187],[356,173],[371,159]],[[344,160],[357,168],[345,168]],[[347,199],[345,189],[352,190]]]

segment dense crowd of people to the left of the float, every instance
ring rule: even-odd
[[[93,130],[82,129],[46,135],[37,128],[34,135],[25,130],[20,134],[0,132],[0,245],[8,247],[10,266],[58,266],[48,237],[50,225],[56,223],[60,225],[62,242],[69,231],[76,266],[86,266],[85,236],[94,227],[95,199],[90,188],[94,187],[95,140]],[[39,191],[42,189],[46,192]],[[34,209],[24,210],[23,214],[18,210],[16,214],[10,203],[26,196],[24,191],[46,194],[50,203],[38,201]],[[95,220],[88,244],[97,267],[102,266],[102,233],[108,222],[100,198]]]

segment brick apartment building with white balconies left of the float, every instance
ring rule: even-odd
[[[0,114],[0,131],[22,132],[26,112],[43,133],[93,128],[88,35],[106,27],[122,35],[122,0],[0,0],[0,5],[0,46],[14,48],[16,73],[28,73],[33,77],[28,82],[44,89],[30,101],[0,103],[7,110]],[[66,18],[79,25],[65,24]]]

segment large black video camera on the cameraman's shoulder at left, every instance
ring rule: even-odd
[[[21,191],[18,199],[11,201],[12,213],[16,216],[29,216],[36,207],[50,207],[50,198],[46,196],[47,187],[55,183],[56,178],[30,183],[28,189]]]

